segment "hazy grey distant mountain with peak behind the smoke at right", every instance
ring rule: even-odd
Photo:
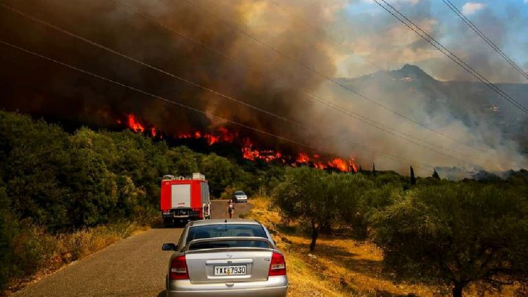
[[[412,106],[400,107],[398,100],[415,100],[428,114],[439,110],[448,111],[453,119],[461,120],[467,126],[485,120],[500,127],[510,139],[523,144],[528,152],[526,114],[483,83],[439,81],[415,65],[404,65],[401,69],[375,72],[358,78],[339,78],[339,81],[363,94],[374,94],[371,96],[373,98],[391,98],[386,100],[386,104],[404,114],[412,112]],[[528,107],[528,85],[498,83],[496,86]]]

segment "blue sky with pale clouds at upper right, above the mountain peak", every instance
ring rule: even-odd
[[[528,72],[528,0],[451,0],[505,54]],[[441,0],[388,1],[443,45],[494,82],[528,83],[478,37]],[[337,14],[331,31],[350,51],[338,56],[338,76],[358,76],[377,69],[419,65],[441,80],[470,80],[419,36],[372,0],[350,1]]]

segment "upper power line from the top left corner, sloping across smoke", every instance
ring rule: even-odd
[[[153,69],[153,70],[158,71],[158,72],[161,72],[162,74],[166,74],[166,75],[171,76],[171,77],[173,77],[173,78],[176,78],[176,79],[178,79],[178,80],[184,81],[185,83],[189,83],[190,85],[193,85],[193,86],[195,86],[195,87],[199,87],[199,88],[204,89],[204,90],[206,90],[206,91],[210,91],[210,92],[212,92],[213,94],[216,94],[216,95],[218,95],[218,96],[222,96],[223,98],[228,98],[228,99],[233,100],[233,101],[235,101],[235,102],[239,102],[239,103],[241,103],[241,104],[244,104],[246,107],[250,107],[250,108],[253,108],[253,109],[256,109],[256,110],[262,111],[262,112],[264,112],[264,113],[266,113],[266,114],[268,114],[268,115],[272,115],[272,116],[274,116],[275,118],[279,118],[279,119],[281,119],[281,120],[285,120],[285,121],[290,122],[290,123],[292,123],[292,124],[296,124],[296,125],[299,126],[300,128],[303,128],[303,129],[305,129],[305,130],[307,130],[307,131],[311,131],[311,129],[307,128],[306,126],[303,126],[302,124],[299,124],[299,123],[294,122],[294,121],[292,121],[292,120],[289,120],[289,119],[287,119],[287,118],[283,118],[283,117],[281,117],[280,115],[276,115],[275,113],[272,113],[272,112],[270,112],[270,111],[265,111],[265,110],[263,110],[263,109],[259,109],[258,107],[254,107],[252,104],[248,104],[248,103],[245,103],[245,102],[243,102],[243,101],[241,101],[241,100],[237,100],[236,98],[232,98],[231,96],[227,96],[227,95],[221,94],[221,93],[218,92],[218,91],[214,91],[213,89],[210,89],[210,88],[208,88],[208,87],[204,87],[204,86],[202,86],[202,85],[199,85],[199,84],[197,84],[197,83],[194,83],[194,82],[192,82],[192,81],[190,81],[190,80],[187,80],[187,79],[185,79],[185,78],[181,78],[181,77],[179,77],[179,76],[176,76],[175,74],[171,74],[170,72],[166,72],[166,71],[164,71],[163,69],[159,69],[159,68],[157,68],[157,67],[154,67],[154,66],[152,66],[152,65],[149,65],[149,64],[144,63],[144,62],[142,62],[142,61],[139,61],[139,60],[137,60],[137,59],[135,59],[135,58],[132,58],[131,56],[127,56],[126,54],[122,54],[121,52],[117,52],[117,51],[115,51],[115,50],[112,50],[112,49],[109,48],[109,47],[106,47],[106,46],[104,46],[104,45],[100,45],[99,43],[96,43],[96,42],[94,42],[94,41],[91,41],[91,40],[89,40],[89,39],[86,39],[86,38],[84,38],[83,36],[79,36],[78,34],[75,34],[75,33],[73,33],[73,32],[69,32],[68,30],[65,30],[65,29],[63,29],[63,28],[59,28],[58,26],[53,25],[52,23],[49,23],[49,22],[47,22],[47,21],[43,21],[43,20],[41,20],[41,19],[38,19],[38,18],[36,18],[36,17],[33,17],[33,16],[31,16],[30,14],[27,14],[27,13],[25,13],[25,12],[22,12],[21,10],[17,10],[17,9],[15,9],[15,8],[11,8],[10,6],[5,5],[5,4],[0,4],[0,5],[2,5],[2,6],[5,7],[5,8],[8,8],[8,9],[12,10],[13,12],[17,12],[18,14],[21,14],[23,17],[27,17],[28,19],[31,19],[32,21],[35,21],[35,22],[40,23],[40,24],[42,24],[42,25],[46,25],[47,27],[53,28],[54,30],[58,30],[59,32],[63,32],[64,34],[67,34],[68,36],[72,36],[72,37],[74,37],[74,38],[76,38],[76,39],[80,39],[81,41],[85,41],[86,43],[89,43],[90,45],[94,45],[94,46],[96,46],[96,47],[99,47],[99,48],[101,48],[102,50],[107,50],[108,52],[111,52],[112,54],[116,54],[116,55],[118,55],[118,56],[120,56],[120,57],[122,57],[122,58],[126,58],[126,59],[128,59],[129,61],[133,61],[133,62],[135,62],[135,63],[138,63],[138,64],[142,65],[142,66],[148,67],[148,68]],[[374,126],[375,126],[375,125],[374,125]],[[382,129],[383,131],[386,131],[386,132],[388,132],[388,133],[391,133],[391,134],[395,135],[395,133],[392,133],[391,131],[387,131],[386,129],[380,128],[379,126],[376,126],[376,127],[377,127],[378,129]],[[398,135],[395,135],[395,136],[399,137]],[[340,136],[338,136],[338,135],[336,135],[336,136],[334,136],[334,137],[336,137],[336,138],[338,138],[338,139],[342,139],[342,137],[340,137]],[[438,154],[440,154],[440,155],[444,155],[445,157],[449,157],[449,158],[451,158],[451,159],[454,159],[454,160],[456,160],[457,162],[461,162],[461,163],[463,163],[463,164],[470,164],[469,162],[467,162],[467,161],[465,161],[465,160],[463,160],[463,159],[459,159],[459,158],[457,158],[457,157],[453,157],[452,155],[448,155],[448,154],[445,154],[445,153],[443,153],[443,152],[441,152],[441,151],[437,151],[437,150],[434,149],[434,148],[430,148],[430,147],[428,147],[428,146],[421,145],[421,144],[419,144],[419,143],[417,143],[417,142],[414,142],[414,141],[412,141],[412,140],[408,140],[408,139],[405,138],[405,137],[401,137],[401,138],[404,139],[404,140],[406,140],[406,141],[408,141],[408,142],[410,142],[410,143],[412,143],[412,144],[416,144],[416,145],[418,145],[418,146],[422,146],[423,148],[426,148],[426,149],[428,149],[429,151],[432,151],[432,152],[434,152],[434,153],[438,153]],[[350,143],[349,140],[345,140],[345,139],[343,139],[343,141],[344,141],[345,143]],[[423,141],[423,140],[422,140],[422,141]],[[472,164],[470,164],[470,165],[472,165]]]

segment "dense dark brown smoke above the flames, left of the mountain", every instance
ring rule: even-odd
[[[300,95],[301,91],[316,90],[322,78],[299,71],[285,58],[225,21],[259,36],[263,42],[300,63],[307,63],[325,74],[333,75],[334,72],[324,46],[325,36],[298,21],[278,18],[274,14],[276,7],[271,8],[274,4],[267,1],[230,1],[228,5],[217,1],[168,0],[5,3],[166,72],[294,121],[305,118],[311,109],[311,103]],[[306,13],[322,23],[322,10],[314,7]],[[287,122],[261,111],[127,61],[5,8],[0,9],[0,14],[1,39],[28,50],[270,133],[296,140],[315,135],[315,131],[289,128]],[[160,27],[147,17],[179,34]],[[252,65],[252,68],[181,35]],[[320,44],[307,47],[305,36],[319,40]],[[100,121],[100,124],[113,123],[116,114],[132,112],[167,133],[223,124],[217,118],[203,117],[200,113],[90,78],[9,47],[1,46],[0,50],[4,69],[1,73],[3,105],[8,109],[59,118],[66,116],[85,122]],[[261,72],[267,76],[262,76]]]

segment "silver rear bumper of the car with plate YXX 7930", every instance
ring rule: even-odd
[[[288,291],[286,276],[270,276],[267,281],[247,283],[203,283],[191,284],[188,280],[169,281],[167,297],[214,296],[214,297],[284,297]]]

